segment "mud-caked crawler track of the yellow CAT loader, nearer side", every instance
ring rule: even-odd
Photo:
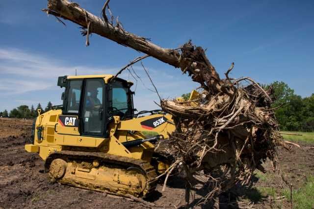
[[[57,180],[61,184],[82,187],[82,188],[87,188],[87,189],[92,189],[92,190],[98,190],[98,191],[105,191],[107,193],[114,193],[119,196],[126,196],[127,194],[131,194],[136,197],[149,196],[151,192],[154,191],[157,186],[157,179],[156,179],[157,174],[156,174],[155,168],[150,163],[143,160],[115,156],[115,155],[110,155],[107,153],[100,153],[100,152],[61,151],[61,152],[52,153],[47,158],[45,162],[46,172],[49,171],[50,165],[54,159],[62,159],[66,163],[70,164],[72,167],[82,167],[82,166],[92,167],[92,162],[98,161],[100,164],[98,167],[104,167],[106,170],[105,172],[108,173],[106,174],[107,176],[105,177],[108,177],[108,176],[110,177],[110,174],[113,173],[114,169],[119,169],[119,172],[122,172],[122,175],[128,175],[129,168],[132,168],[133,170],[135,170],[135,172],[137,172],[137,174],[141,174],[145,177],[145,186],[143,186],[144,188],[140,189],[140,191],[138,190],[134,191],[134,189],[131,189],[131,183],[130,183],[130,189],[128,190],[128,188],[121,189],[119,185],[118,187],[115,186],[117,185],[117,183],[114,182],[114,180],[112,180],[112,182],[109,182],[108,184],[105,184],[105,186],[97,184],[97,181],[95,181],[95,184],[93,184],[92,180],[84,181],[84,179],[82,180],[81,178],[76,178],[75,174],[71,175],[69,168],[67,168],[65,176]],[[97,168],[94,168],[94,171],[95,169]],[[78,172],[78,171],[72,171],[72,173],[74,172]],[[100,169],[98,169],[96,173],[97,173],[96,175],[98,175],[98,173],[100,173]],[[115,174],[112,175],[111,179],[113,178],[116,178]],[[119,180],[117,182],[119,184]],[[108,186],[108,185],[111,185],[111,186]]]

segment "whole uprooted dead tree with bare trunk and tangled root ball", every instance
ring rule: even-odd
[[[188,184],[208,186],[206,200],[229,189],[236,183],[246,184],[255,169],[264,171],[262,163],[268,158],[276,167],[277,145],[288,148],[279,134],[279,127],[270,105],[271,90],[267,92],[249,77],[221,79],[209,62],[202,47],[189,41],[178,49],[162,48],[144,37],[127,32],[114,20],[105,2],[102,17],[97,17],[77,3],[49,0],[43,11],[77,23],[89,45],[92,33],[131,47],[180,68],[200,84],[200,95],[192,101],[160,101],[165,112],[174,116],[177,130],[168,140],[165,152],[174,157],[166,175],[179,171]],[[106,11],[109,11],[108,20]],[[62,22],[63,23],[63,22]],[[141,58],[137,58],[140,60]],[[242,85],[243,81],[249,83]],[[167,178],[166,178],[167,179]]]

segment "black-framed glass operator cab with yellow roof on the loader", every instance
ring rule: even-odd
[[[112,75],[61,76],[58,86],[65,87],[61,97],[62,115],[78,118],[80,135],[106,138],[112,116],[129,119],[134,115],[132,83],[121,78]]]

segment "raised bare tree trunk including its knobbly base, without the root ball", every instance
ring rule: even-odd
[[[77,3],[68,0],[49,0],[48,9],[43,11],[56,17],[79,24],[86,29],[82,34],[96,33],[123,46],[129,46],[158,60],[181,68],[192,75],[192,79],[206,90],[214,92],[231,90],[221,89],[220,78],[215,68],[210,64],[202,47],[194,47],[190,42],[183,45],[182,53],[177,49],[162,48],[147,39],[125,31],[119,23],[113,25],[81,8]]]

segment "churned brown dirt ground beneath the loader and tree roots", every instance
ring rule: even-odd
[[[147,205],[130,199],[113,197],[96,191],[51,184],[43,172],[43,161],[37,154],[27,153],[24,144],[30,138],[31,120],[0,118],[0,208],[147,208]],[[304,185],[306,177],[314,174],[314,145],[300,143],[290,152],[278,150],[283,173],[297,189]],[[257,173],[253,187],[235,187],[222,194],[214,208],[288,208],[287,198],[278,198],[277,191],[284,183],[272,173],[265,163],[267,174]],[[269,188],[267,190],[265,188]],[[263,190],[264,189],[264,190]],[[161,194],[161,185],[156,194],[147,201],[154,208],[178,208],[184,202],[184,188],[180,181],[172,179]],[[202,188],[197,189],[191,207],[201,197]],[[274,191],[274,192],[270,192]],[[202,208],[210,208],[205,205]],[[199,208],[199,207],[198,207]]]

